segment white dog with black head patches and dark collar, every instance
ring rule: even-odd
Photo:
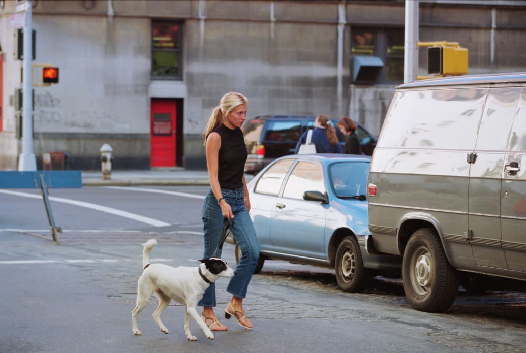
[[[177,268],[163,265],[150,265],[150,251],[157,245],[155,239],[148,240],[143,244],[143,274],[139,277],[137,286],[137,305],[131,311],[131,322],[134,335],[140,335],[141,332],[137,327],[137,316],[148,304],[148,300],[155,292],[159,301],[159,306],[155,309],[154,321],[165,334],[168,329],[160,320],[161,312],[168,306],[171,299],[186,305],[185,315],[185,333],[186,338],[195,341],[197,338],[190,333],[190,316],[196,320],[197,324],[205,333],[208,339],[214,339],[214,334],[206,326],[205,321],[197,314],[196,306],[199,300],[203,298],[205,290],[211,283],[219,277],[234,277],[236,271],[227,266],[227,263],[220,258],[212,257],[209,259],[199,260],[199,267]]]

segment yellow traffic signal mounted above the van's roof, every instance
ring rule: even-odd
[[[468,49],[460,46],[432,46],[428,48],[430,75],[463,75],[468,73]]]

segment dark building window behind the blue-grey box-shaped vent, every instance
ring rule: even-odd
[[[351,28],[351,55],[379,57],[383,69],[378,83],[403,82],[403,29]]]

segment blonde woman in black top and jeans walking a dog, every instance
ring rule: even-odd
[[[259,244],[254,225],[248,215],[250,200],[244,167],[248,153],[241,125],[246,119],[247,98],[240,93],[230,92],[222,96],[206,126],[205,146],[210,191],[203,203],[204,257],[221,256],[218,249],[224,218],[234,222],[230,231],[241,248],[241,258],[236,267],[236,275],[228,284],[227,291],[232,298],[225,308],[225,318],[234,317],[238,324],[252,328],[243,310],[243,298],[254,274],[259,257]],[[215,285],[211,284],[199,301],[203,306],[203,320],[213,331],[225,331],[214,312],[216,306]]]

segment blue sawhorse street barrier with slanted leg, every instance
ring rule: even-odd
[[[60,245],[58,233],[62,228],[55,225],[53,211],[48,198],[48,188],[80,188],[82,174],[80,170],[36,170],[35,172],[0,171],[0,188],[2,189],[33,189],[41,190],[46,207],[49,231],[53,240]]]

